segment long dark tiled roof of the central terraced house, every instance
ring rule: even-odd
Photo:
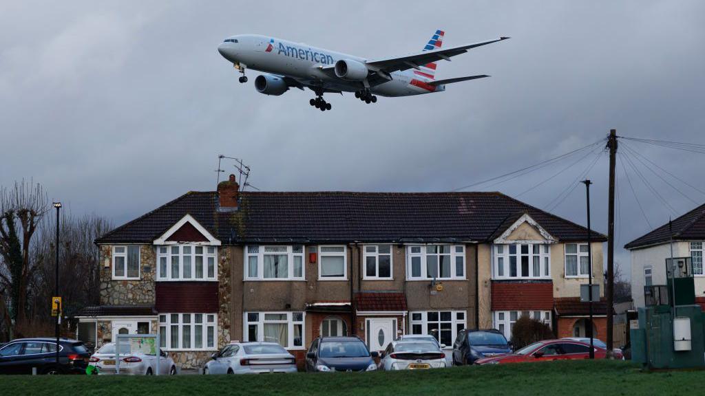
[[[98,243],[152,242],[185,214],[223,245],[252,242],[460,242],[491,240],[529,214],[562,241],[587,229],[499,192],[241,192],[217,210],[216,192],[189,192],[122,225]],[[593,233],[595,241],[606,238]]]

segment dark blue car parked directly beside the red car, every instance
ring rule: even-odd
[[[465,329],[458,332],[453,342],[453,364],[473,364],[482,357],[508,354],[512,347],[498,330]]]

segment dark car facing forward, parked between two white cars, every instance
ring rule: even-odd
[[[373,359],[377,356],[357,337],[319,337],[306,353],[306,371],[373,371],[377,369]]]

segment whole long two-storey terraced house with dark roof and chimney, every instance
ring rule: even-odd
[[[234,177],[218,187],[96,241],[101,305],[86,307],[79,333],[101,345],[159,330],[184,367],[230,340],[276,341],[302,359],[319,335],[371,349],[404,333],[450,347],[461,328],[510,338],[523,314],[580,333],[587,230],[504,194],[240,192]],[[601,283],[605,238],[594,240]]]

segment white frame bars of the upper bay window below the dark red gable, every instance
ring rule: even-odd
[[[184,248],[190,248],[190,254],[184,254]],[[192,245],[192,244],[178,244],[178,245],[159,245],[155,247],[157,249],[157,280],[158,281],[169,281],[169,282],[179,282],[179,281],[192,281],[192,280],[207,280],[207,281],[217,281],[218,280],[218,247],[208,246],[208,245]],[[178,254],[173,254],[172,249],[178,249]],[[202,254],[196,254],[196,249],[203,249]],[[212,249],[212,253],[209,250]],[[173,278],[171,273],[171,257],[178,256],[178,268],[179,277]],[[190,278],[184,278],[184,257],[190,256],[191,260],[191,276]],[[196,278],[196,256],[203,257],[203,278]],[[166,273],[161,271],[161,259],[166,259]],[[213,276],[208,276],[208,259],[213,259]]]

